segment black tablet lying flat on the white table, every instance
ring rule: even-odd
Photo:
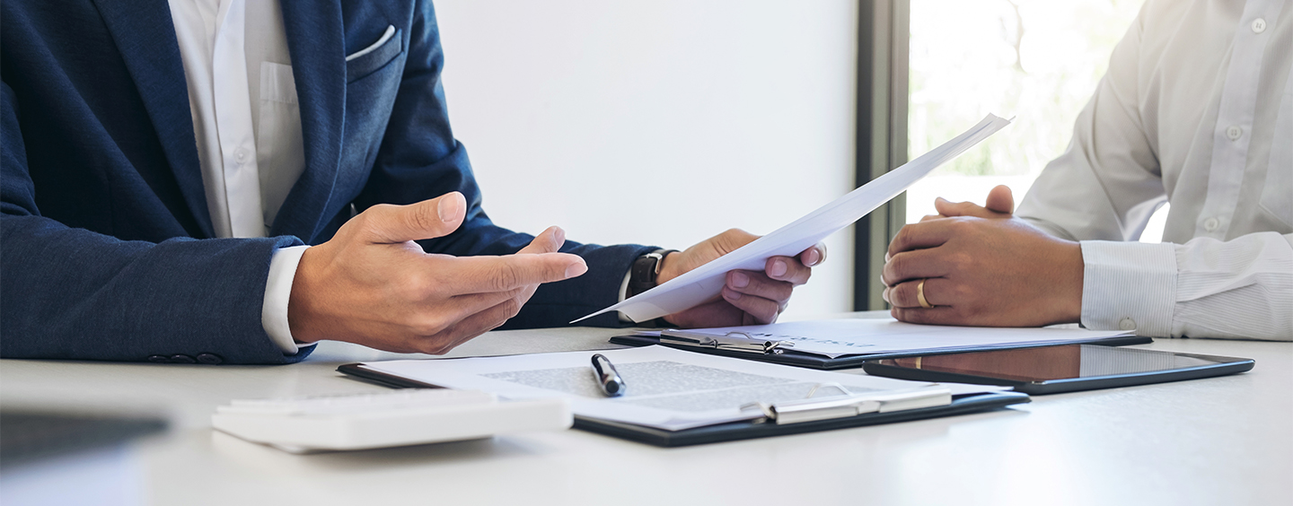
[[[1027,394],[1208,378],[1252,369],[1252,359],[1099,345],[924,355],[868,360],[862,370],[900,380],[1003,385]]]

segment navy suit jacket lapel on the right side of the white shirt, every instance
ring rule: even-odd
[[[270,227],[310,239],[327,223],[345,121],[345,40],[339,0],[282,0],[292,79],[301,110],[305,170]]]

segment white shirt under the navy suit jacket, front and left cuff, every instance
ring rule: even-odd
[[[219,238],[264,238],[305,169],[301,116],[278,1],[169,0],[189,85],[207,210]],[[270,261],[261,324],[286,354],[296,266],[306,247]]]

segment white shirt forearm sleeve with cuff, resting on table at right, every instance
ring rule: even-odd
[[[1293,341],[1293,235],[1081,244],[1086,328]]]

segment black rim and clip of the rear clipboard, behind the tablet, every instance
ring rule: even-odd
[[[666,333],[671,333],[672,336]],[[831,359],[829,356],[795,350],[793,347],[794,343],[787,343],[784,341],[751,338],[749,336],[733,336],[733,334],[736,333],[729,333],[727,336],[712,336],[712,334],[700,334],[700,333],[689,333],[685,330],[667,329],[662,330],[659,337],[650,334],[626,334],[626,336],[612,337],[610,342],[614,345],[625,345],[625,346],[661,345],[676,350],[687,350],[709,355],[729,356],[733,359],[759,360],[772,364],[795,365],[795,367],[822,369],[822,370],[857,369],[861,368],[862,364],[868,360],[904,359],[908,356],[962,354],[968,351],[1016,350],[1016,349],[1060,346],[1060,345],[1129,346],[1129,345],[1148,345],[1153,342],[1153,338],[1149,337],[1117,336],[1117,337],[1104,337],[1094,339],[1049,342],[1041,345],[1033,342],[1033,343],[1012,343],[1012,345],[966,346],[966,347],[940,349],[940,350],[926,349],[926,350],[906,350],[906,351],[877,352],[877,354],[840,355]]]

